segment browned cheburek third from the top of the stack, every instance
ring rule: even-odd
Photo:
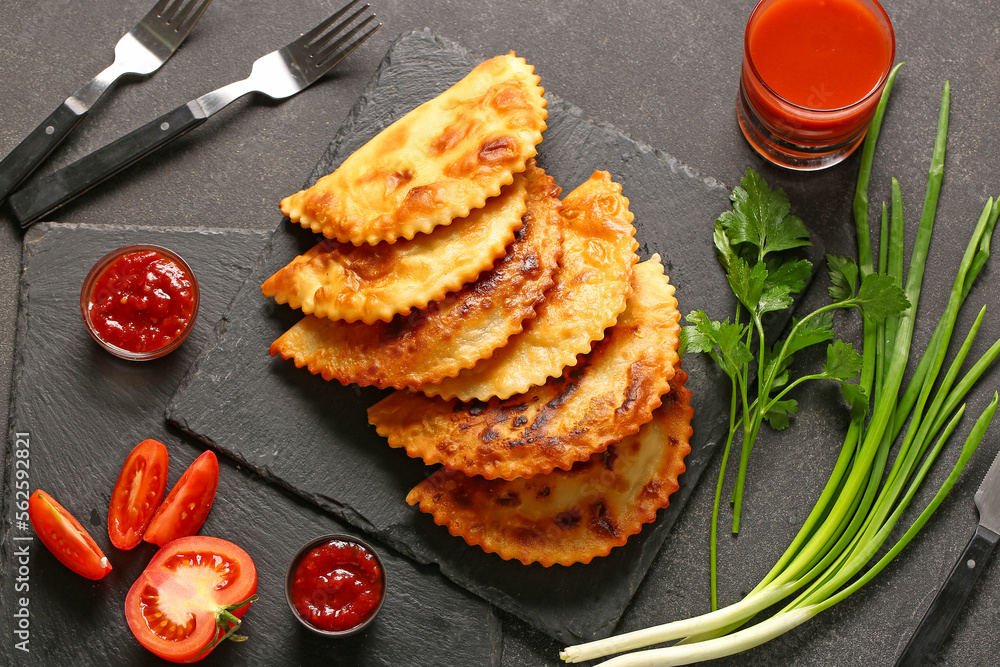
[[[327,380],[380,388],[440,382],[492,354],[534,317],[562,254],[559,187],[538,167],[525,176],[524,227],[510,252],[478,280],[391,322],[308,315],[271,344],[271,354]]]

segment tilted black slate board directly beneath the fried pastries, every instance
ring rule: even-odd
[[[314,169],[307,185],[421,102],[445,90],[481,58],[427,31],[399,37],[372,83]],[[545,84],[545,72],[540,72]],[[681,312],[734,308],[711,244],[712,221],[728,191],[674,158],[582,117],[549,98],[538,162],[569,192],[595,169],[623,184],[635,214],[640,260],[663,257]],[[589,565],[543,568],[469,547],[406,505],[429,469],[390,448],[366,421],[384,392],[324,382],[267,354],[301,316],[259,289],[274,271],[316,242],[287,219],[275,231],[218,328],[171,400],[168,420],[208,445],[342,517],[561,641],[611,633],[698,481],[728,415],[728,381],[702,355],[685,360],[694,392],[694,438],[681,488],[658,520],[625,547]]]

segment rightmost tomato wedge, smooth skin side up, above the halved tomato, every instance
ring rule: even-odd
[[[143,539],[159,546],[194,535],[205,523],[219,486],[219,459],[208,450],[188,466],[170,489],[146,528]]]

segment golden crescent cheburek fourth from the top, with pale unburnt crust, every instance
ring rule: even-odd
[[[454,378],[425,385],[430,396],[461,401],[510,398],[543,384],[604,337],[625,310],[638,261],[628,199],[606,171],[563,199],[563,257],[536,317],[492,357]]]

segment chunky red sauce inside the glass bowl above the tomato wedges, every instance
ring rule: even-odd
[[[169,345],[195,313],[192,277],[154,250],[122,255],[97,277],[87,309],[107,343],[136,353]]]

